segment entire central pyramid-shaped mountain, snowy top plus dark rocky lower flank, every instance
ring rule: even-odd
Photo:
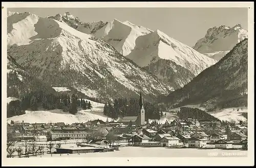
[[[178,65],[179,68],[173,70],[169,75],[161,75],[161,73],[150,69],[153,74],[160,79],[164,79],[164,81],[169,80],[172,76],[177,76],[173,81],[169,80],[167,82],[168,85],[176,89],[184,86],[205,68],[216,63],[216,60],[206,57],[159,30],[138,37],[134,50],[126,57],[133,60],[140,67],[158,67],[160,71],[176,69]],[[180,70],[185,73],[180,73]],[[173,83],[176,83],[176,85],[173,85]],[[179,85],[177,85],[178,83]]]

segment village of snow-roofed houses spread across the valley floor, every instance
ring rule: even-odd
[[[15,143],[17,147],[31,146],[31,150],[27,149],[31,154],[36,153],[32,151],[36,150],[36,144],[38,148],[48,149],[46,153],[50,150],[57,154],[110,152],[125,146],[247,150],[246,122],[221,125],[217,121],[187,119],[136,126],[136,120],[124,117],[118,122],[92,120],[70,125],[63,122],[12,123],[7,125],[9,150]],[[67,143],[75,146],[61,147]],[[26,156],[25,150],[22,151]]]

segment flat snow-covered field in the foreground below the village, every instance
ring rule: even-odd
[[[215,157],[246,157],[247,151],[222,150],[222,149],[169,149],[164,147],[123,147],[114,152],[95,152],[80,154],[45,154],[41,157],[212,157],[209,153],[215,153]],[[237,156],[223,155],[238,153]],[[37,156],[38,157],[38,156]],[[40,156],[39,156],[40,157]]]

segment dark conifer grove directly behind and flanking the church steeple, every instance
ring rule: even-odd
[[[143,102],[145,109],[145,120],[159,120],[163,115],[159,107],[154,106],[152,103]],[[130,98],[129,101],[126,98],[115,99],[114,103],[105,103],[103,114],[113,119],[124,116],[138,116],[139,114],[139,99]]]

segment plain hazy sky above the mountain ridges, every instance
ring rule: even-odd
[[[71,12],[81,21],[130,21],[194,46],[210,27],[238,23],[248,30],[247,8],[9,8],[13,12],[31,12],[41,17]]]

